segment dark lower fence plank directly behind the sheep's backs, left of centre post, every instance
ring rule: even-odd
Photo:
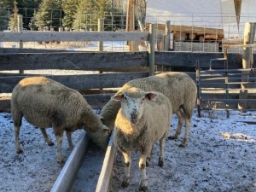
[[[66,85],[74,90],[90,90],[101,88],[120,87],[131,79],[148,77],[148,73],[101,73],[85,75],[46,75],[45,77],[53,79],[61,84]],[[22,76],[0,77],[0,93],[10,93]]]

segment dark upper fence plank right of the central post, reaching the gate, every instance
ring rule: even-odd
[[[256,63],[256,54],[253,54]],[[214,58],[224,58],[224,53],[199,53],[199,52],[155,52],[155,65],[171,67],[196,67],[195,61],[200,62],[201,68],[209,68],[210,60]],[[239,53],[229,53],[229,68],[241,68],[242,55]],[[214,61],[212,68],[224,68],[224,61]]]

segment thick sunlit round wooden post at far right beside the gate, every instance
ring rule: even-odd
[[[255,36],[255,26],[256,23],[253,22],[247,22],[244,29],[243,34],[243,44],[253,44],[254,42],[254,36]],[[248,69],[251,67],[251,61],[252,61],[252,48],[251,47],[244,47],[243,48],[243,55],[242,55],[242,68]],[[241,82],[247,82],[249,80],[249,75],[247,72],[241,73]],[[247,99],[247,84],[241,83],[241,90],[239,99]],[[238,109],[245,109],[247,108],[247,103],[240,102],[238,103]]]

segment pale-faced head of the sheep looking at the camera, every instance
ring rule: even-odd
[[[138,88],[130,88],[112,96],[114,101],[121,102],[121,111],[132,125],[136,125],[143,116],[145,102],[154,101],[157,97],[155,92],[145,92]]]

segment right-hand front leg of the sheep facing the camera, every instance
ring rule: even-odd
[[[139,190],[141,191],[146,191],[148,189],[148,181],[146,174],[146,159],[148,157],[148,154],[141,154],[139,160],[139,167],[141,169],[141,184]]]

